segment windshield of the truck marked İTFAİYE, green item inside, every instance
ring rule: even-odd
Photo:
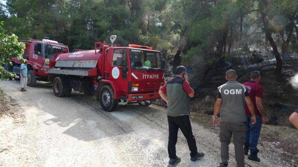
[[[132,70],[163,70],[159,52],[129,49],[129,56]]]

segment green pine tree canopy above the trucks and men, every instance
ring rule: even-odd
[[[298,2],[293,0],[7,0],[0,19],[22,40],[44,36],[70,50],[107,41],[149,45],[195,67],[203,81],[217,62],[243,51],[275,57],[297,53]]]

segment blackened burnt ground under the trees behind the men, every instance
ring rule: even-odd
[[[298,108],[298,86],[296,81],[293,81],[298,78],[297,64],[298,59],[284,63],[282,75],[274,74],[275,65],[236,70],[239,83],[249,81],[252,71],[260,71],[260,84],[264,89],[263,105],[269,119],[269,125],[293,127],[288,121],[288,117]],[[213,114],[217,87],[226,83],[224,77],[225,71],[217,75],[209,75],[205,84],[195,89],[196,96],[191,102],[192,111]]]

